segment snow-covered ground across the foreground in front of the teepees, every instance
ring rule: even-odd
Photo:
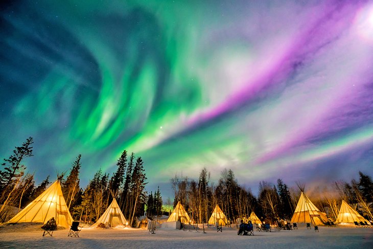
[[[257,232],[238,236],[237,229],[156,230],[83,229],[80,238],[67,237],[67,230],[57,230],[53,237],[42,237],[40,224],[0,226],[0,248],[373,248],[373,228],[339,226],[293,231]],[[192,227],[193,228],[193,227]]]

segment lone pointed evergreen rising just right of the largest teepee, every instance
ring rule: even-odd
[[[62,193],[63,197],[66,200],[67,207],[70,211],[73,210],[73,207],[76,204],[77,194],[79,193],[79,170],[81,168],[81,154],[77,156],[77,159],[72,165],[70,174],[67,176],[66,180],[62,182]]]

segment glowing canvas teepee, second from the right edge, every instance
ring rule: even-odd
[[[307,195],[301,192],[295,212],[291,218],[291,223],[313,223],[315,225],[322,225],[323,222],[327,221],[327,215],[320,212]]]

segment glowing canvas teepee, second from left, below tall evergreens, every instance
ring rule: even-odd
[[[115,198],[91,228],[96,228],[100,223],[104,223],[105,225],[108,224],[111,228],[116,227],[117,225],[128,224]]]

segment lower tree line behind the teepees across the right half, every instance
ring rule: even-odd
[[[217,184],[209,180],[209,175],[203,168],[198,180],[177,175],[171,179],[174,207],[180,201],[194,222],[206,223],[216,205],[232,222],[249,217],[252,211],[268,223],[290,220],[301,193],[301,188],[289,187],[282,179],[277,179],[276,184],[261,181],[258,196],[254,196],[251,189],[239,185],[230,169],[221,172]],[[353,179],[351,183],[335,182],[333,186],[318,187],[312,197],[315,197],[315,206],[334,220],[342,199],[362,216],[373,220],[373,183],[371,177],[362,172],[359,172],[359,179]]]

